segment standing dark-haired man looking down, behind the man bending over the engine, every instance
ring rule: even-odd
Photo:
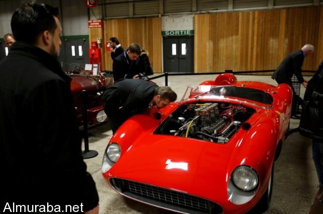
[[[135,61],[139,57],[141,48],[139,44],[132,43],[128,49],[113,59],[113,79],[132,78],[136,73]]]

